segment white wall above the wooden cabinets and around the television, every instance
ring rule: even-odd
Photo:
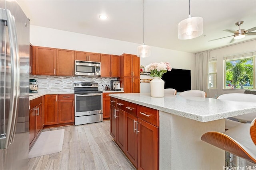
[[[30,43],[32,45],[42,47],[88,51],[113,55],[121,55],[123,53],[136,54],[136,48],[138,45],[140,45],[114,39],[106,39],[102,37],[61,31],[46,27],[38,27],[35,25],[30,25]],[[191,88],[194,89],[194,53],[151,47],[151,57],[140,59],[140,65],[146,66],[152,62],[160,61],[170,62],[172,68],[191,70]]]

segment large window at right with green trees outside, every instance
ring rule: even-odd
[[[224,88],[255,89],[255,52],[224,57]]]

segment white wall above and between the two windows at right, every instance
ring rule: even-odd
[[[224,89],[223,57],[256,51],[256,40],[239,43],[210,51],[210,58],[217,59],[217,89],[209,89],[208,97],[216,97],[226,93],[243,93],[243,89]]]

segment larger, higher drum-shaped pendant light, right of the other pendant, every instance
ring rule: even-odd
[[[189,0],[189,16],[178,24],[178,39],[193,39],[202,35],[203,32],[203,18],[190,15]]]

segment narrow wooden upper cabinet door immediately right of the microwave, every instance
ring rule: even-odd
[[[111,58],[108,54],[101,54],[101,77],[110,77],[111,76]],[[120,66],[120,64],[119,64]]]

